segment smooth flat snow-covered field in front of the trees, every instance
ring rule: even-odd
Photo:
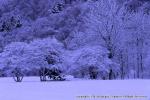
[[[120,97],[116,99],[114,96]],[[12,78],[0,78],[0,100],[150,100],[149,98],[150,80],[40,82],[37,77],[28,77],[22,83],[15,83]]]

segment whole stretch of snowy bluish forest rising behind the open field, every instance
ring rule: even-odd
[[[150,1],[0,0],[0,76],[16,69],[38,76],[43,68],[150,78]]]

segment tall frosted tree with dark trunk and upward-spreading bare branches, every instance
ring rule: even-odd
[[[109,58],[113,58],[119,42],[119,8],[114,0],[100,0],[89,5],[88,31],[97,34],[101,45],[109,50]]]

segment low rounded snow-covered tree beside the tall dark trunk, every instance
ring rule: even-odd
[[[110,71],[119,74],[119,66],[108,58],[108,51],[100,46],[88,46],[71,53],[70,72],[76,77],[109,79]],[[116,78],[114,76],[113,78]]]

